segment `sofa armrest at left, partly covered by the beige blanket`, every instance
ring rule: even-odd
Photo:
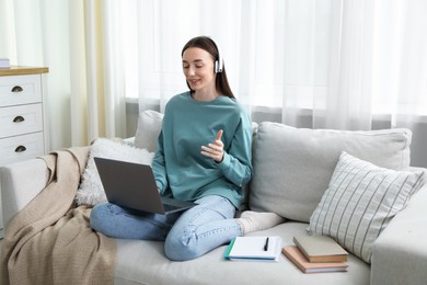
[[[0,168],[4,228],[45,186],[49,170],[44,160],[30,159]]]

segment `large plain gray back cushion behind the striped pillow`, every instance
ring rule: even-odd
[[[253,149],[250,207],[309,223],[342,151],[379,167],[409,166],[409,129],[369,132],[295,128],[264,122]]]

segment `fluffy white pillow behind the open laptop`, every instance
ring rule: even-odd
[[[146,149],[136,148],[106,138],[96,139],[91,146],[82,182],[76,194],[74,200],[78,205],[84,204],[94,206],[99,203],[106,202],[104,187],[102,186],[102,182],[93,160],[94,157],[151,164],[154,153],[149,152]]]

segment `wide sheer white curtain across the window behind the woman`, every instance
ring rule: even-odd
[[[209,35],[255,121],[409,127],[413,150],[424,153],[427,1],[143,0],[135,7],[140,110],[163,110],[186,90],[181,49],[191,37]],[[427,157],[418,157],[415,164],[426,166]]]

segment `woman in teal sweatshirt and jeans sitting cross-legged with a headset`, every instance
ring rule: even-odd
[[[252,125],[229,87],[216,43],[206,36],[191,39],[182,62],[189,91],[166,104],[152,168],[161,195],[198,205],[157,215],[106,203],[91,213],[93,229],[114,238],[165,241],[165,254],[174,261],[282,221],[273,213],[234,218],[252,176]]]

